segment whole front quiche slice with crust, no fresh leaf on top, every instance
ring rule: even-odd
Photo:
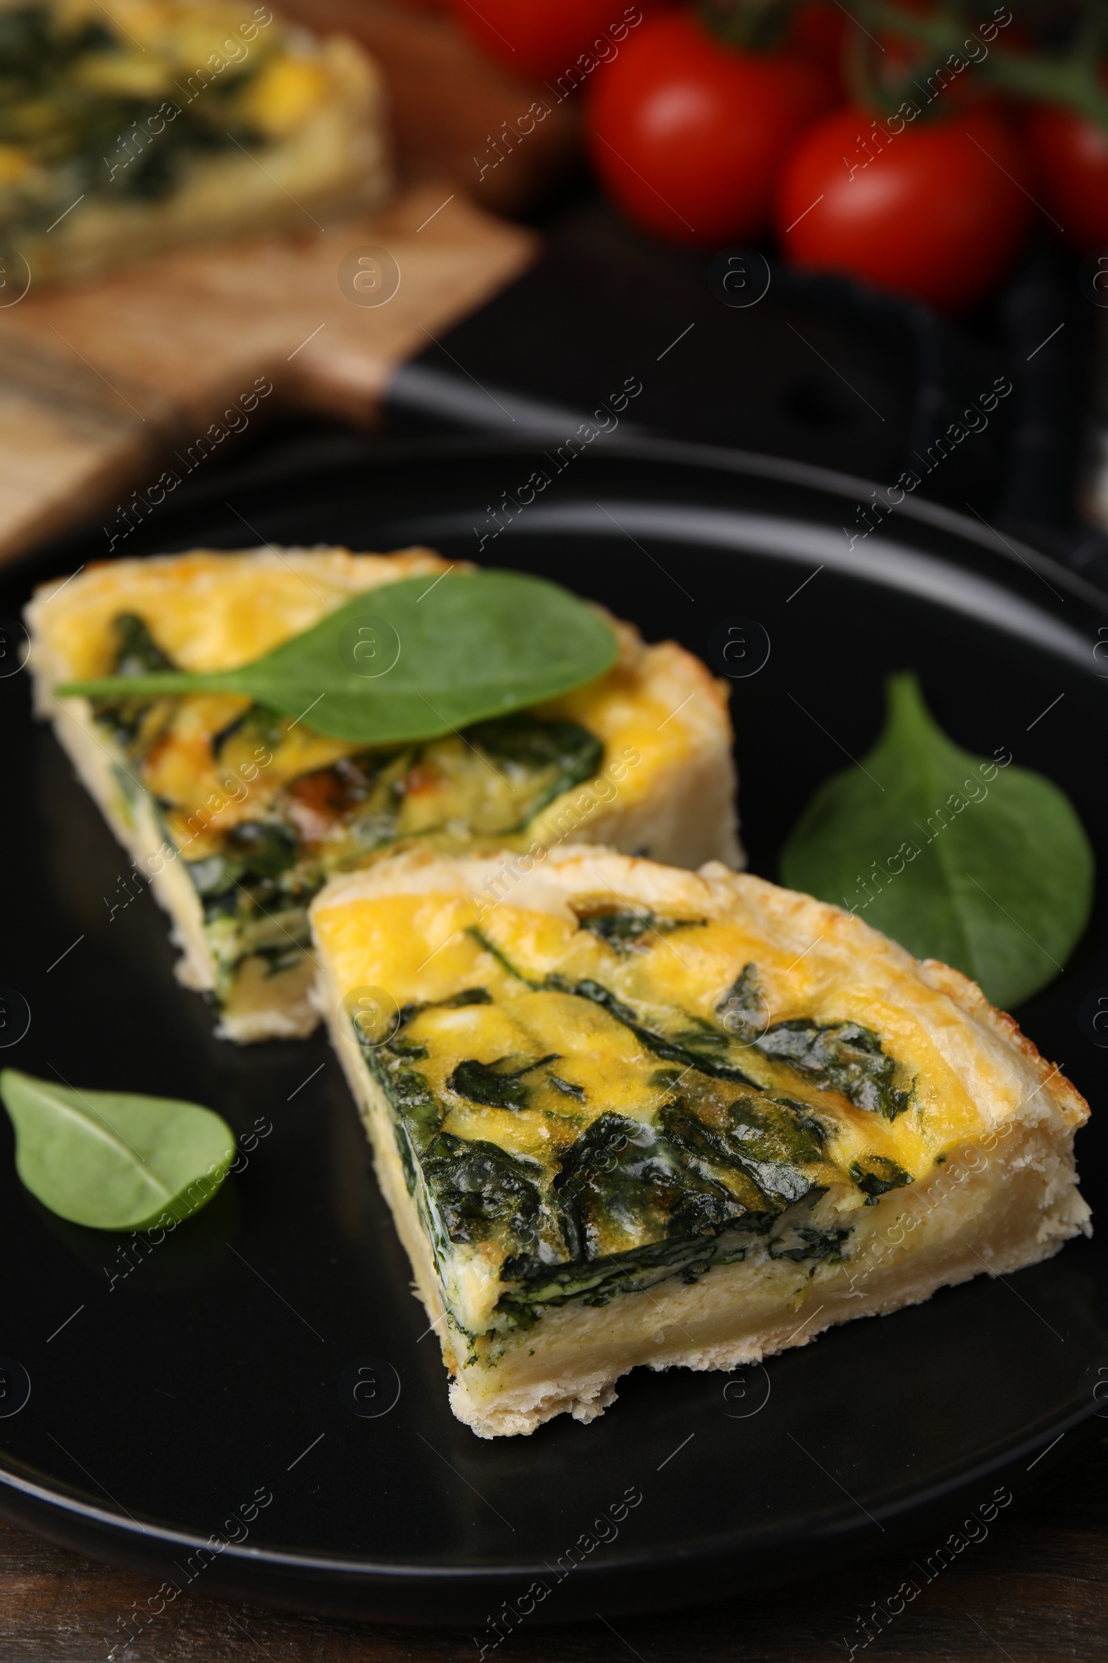
[[[1088,1234],[1085,1099],[958,971],[709,863],[404,855],[319,1003],[480,1437],[733,1369]]]

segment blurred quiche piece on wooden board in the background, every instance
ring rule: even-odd
[[[0,0],[8,289],[311,225],[389,185],[377,67],[252,0]]]

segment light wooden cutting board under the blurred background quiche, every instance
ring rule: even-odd
[[[399,268],[380,306],[339,288],[341,261],[365,246]],[[231,454],[277,409],[372,424],[395,366],[535,249],[532,233],[424,185],[311,236],[188,249],[28,294],[0,311],[0,559],[95,512],[108,554],[128,502],[133,519],[151,487],[176,489],[173,476]]]

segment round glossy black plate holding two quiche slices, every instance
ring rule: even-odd
[[[533,472],[550,484],[527,501]],[[1108,664],[1095,645],[1108,602],[919,504],[851,544],[842,527],[859,530],[867,496],[836,476],[681,446],[610,444],[558,472],[538,449],[344,444],[171,501],[116,552],[269,539],[429,542],[465,557],[502,524],[485,562],[555,577],[648,639],[709,654],[736,617],[767,632],[767,662],[733,683],[754,871],[776,876],[801,807],[872,742],[882,677],[904,667],[960,743],[1008,747],[1065,787],[1103,870]],[[96,527],[27,560],[5,577],[0,612],[103,549]],[[326,1041],[236,1049],[213,1038],[211,1011],[173,981],[163,915],[32,723],[27,677],[0,680],[0,983],[30,1008],[13,1043],[22,1006],[7,999],[0,1061],[208,1103],[248,1151],[203,1214],[146,1251],[40,1209],[15,1177],[3,1123],[10,1517],[176,1587],[465,1620],[492,1646],[503,1625],[485,1618],[497,1613],[510,1626],[749,1590],[887,1547],[927,1508],[947,1538],[995,1507],[998,1487],[1018,1488],[1028,1468],[1038,1478],[1090,1425],[1101,1430],[1105,1249],[1076,1241],[1048,1264],[836,1329],[764,1369],[638,1370],[591,1427],[561,1419],[530,1438],[475,1438],[447,1407],[439,1347]],[[1095,1104],[1106,1084],[1090,1019],[1100,991],[1103,893],[1065,973],[1020,1013]],[[1108,1187],[1103,1144],[1096,1123],[1078,1142],[1095,1207]],[[357,1367],[377,1380],[360,1404]],[[259,1508],[257,1497],[271,1500]],[[218,1552],[204,1555],[213,1533]],[[156,1608],[158,1596],[151,1620]]]

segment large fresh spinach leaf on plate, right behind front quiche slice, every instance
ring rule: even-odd
[[[1093,851],[1042,773],[962,750],[914,675],[862,768],[832,775],[781,856],[792,890],[836,901],[917,958],[939,958],[1010,1008],[1063,968],[1093,905]]]

